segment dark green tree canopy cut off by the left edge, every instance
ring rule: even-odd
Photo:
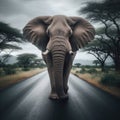
[[[11,44],[11,42],[21,42],[21,39],[22,34],[18,29],[0,22],[0,52],[4,49],[21,49],[20,47]]]

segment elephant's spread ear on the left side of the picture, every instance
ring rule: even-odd
[[[49,40],[46,29],[50,18],[50,16],[36,17],[23,28],[23,36],[42,51],[46,50]]]

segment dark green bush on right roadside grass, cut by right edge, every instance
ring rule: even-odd
[[[118,86],[120,87],[120,75],[116,74],[105,74],[101,78],[101,83],[110,86]]]

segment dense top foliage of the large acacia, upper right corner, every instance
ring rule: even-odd
[[[106,19],[111,21],[120,18],[120,1],[104,0],[103,2],[86,2],[86,7],[79,10],[83,14],[87,14],[87,18],[98,21]]]

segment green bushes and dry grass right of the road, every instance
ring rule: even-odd
[[[120,97],[120,74],[114,66],[106,66],[104,72],[100,66],[73,66],[72,71],[77,77]]]

